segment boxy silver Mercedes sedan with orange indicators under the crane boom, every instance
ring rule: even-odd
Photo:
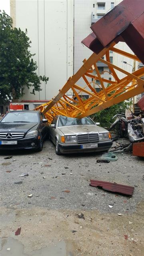
[[[49,139],[56,146],[56,154],[106,151],[112,146],[108,130],[89,117],[55,116],[49,126]]]

